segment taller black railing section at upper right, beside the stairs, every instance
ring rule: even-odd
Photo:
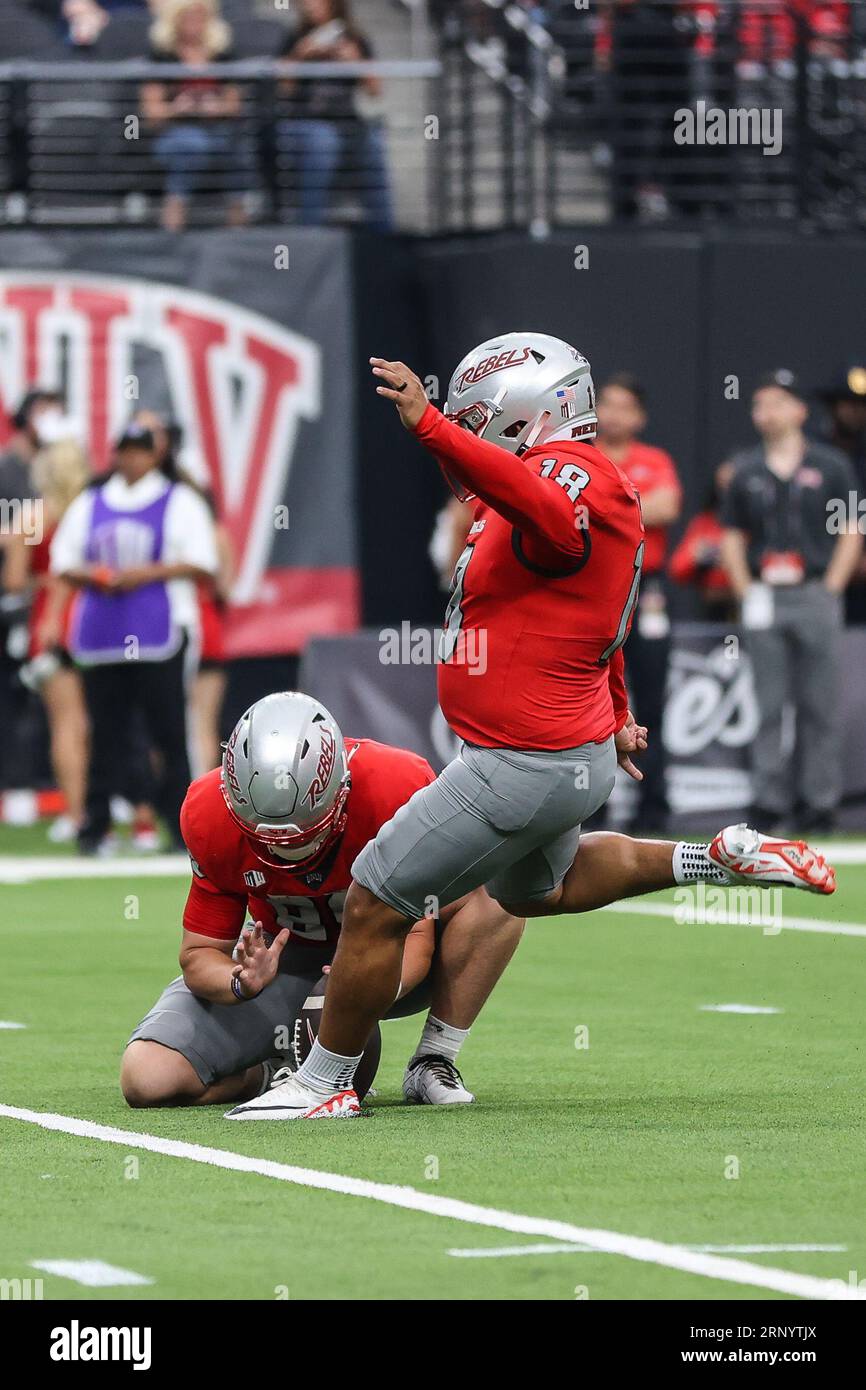
[[[527,222],[866,224],[866,0],[434,13],[446,67],[471,61],[528,115]]]

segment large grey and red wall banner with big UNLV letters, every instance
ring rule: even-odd
[[[64,391],[96,471],[135,410],[170,414],[235,549],[228,655],[353,628],[346,235],[8,232],[0,264],[0,446],[32,385]]]

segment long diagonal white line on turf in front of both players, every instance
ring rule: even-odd
[[[277,1163],[272,1159],[250,1158],[246,1154],[232,1154],[228,1150],[206,1148],[200,1144],[186,1144],[179,1140],[160,1138],[156,1134],[136,1134],[133,1130],[120,1130],[107,1125],[95,1125],[71,1115],[51,1115],[42,1111],[19,1109],[14,1105],[0,1105],[0,1118],[39,1125],[61,1134],[76,1134],[81,1138],[100,1140],[103,1144],[121,1144],[124,1148],[143,1148],[152,1154],[168,1158],[185,1158],[193,1163],[207,1163],[238,1173],[259,1173],[299,1187],[313,1187],[321,1191],[341,1193],[348,1197],[364,1197],[368,1201],[402,1207],[406,1211],[424,1212],[428,1216],[445,1216],[449,1220],[466,1222],[470,1226],[488,1226],[520,1236],[541,1236],[570,1244],[591,1245],[607,1255],[621,1255],[642,1264],[660,1265],[666,1269],[681,1269],[703,1279],[717,1279],[723,1283],[746,1284],[752,1289],[770,1289],[774,1293],[791,1294],[795,1298],[856,1300],[866,1301],[866,1289],[855,1289],[841,1279],[819,1279],[813,1275],[798,1275],[787,1269],[766,1269],[745,1259],[731,1259],[724,1255],[708,1255],[687,1250],[683,1245],[667,1245],[660,1240],[644,1236],[623,1236],[614,1230],[592,1230],[571,1226],[569,1222],[546,1220],[538,1216],[520,1216],[514,1212],[496,1211],[492,1207],[477,1207],[456,1197],[436,1197],[420,1193],[414,1187],[396,1187],[389,1183],[374,1183],[366,1177],[348,1177],[341,1173],[321,1173],[313,1168],[295,1168]],[[324,1122],[327,1123],[327,1120]]]

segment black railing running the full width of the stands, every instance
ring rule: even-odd
[[[866,0],[430,14],[423,63],[1,67],[0,222],[866,224]]]

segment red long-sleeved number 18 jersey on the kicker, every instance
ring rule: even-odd
[[[523,459],[432,404],[416,434],[481,505],[455,566],[439,703],[488,748],[601,742],[627,713],[621,646],[644,556],[635,489],[592,445]]]

